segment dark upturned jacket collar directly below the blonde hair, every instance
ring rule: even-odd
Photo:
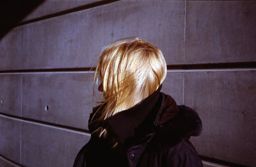
[[[107,120],[109,132],[118,143],[124,145],[125,139],[143,136],[159,123],[164,123],[177,115],[179,109],[169,95],[161,93],[162,85],[140,104],[122,111]],[[164,110],[163,115],[161,114]],[[160,117],[161,116],[161,117]]]

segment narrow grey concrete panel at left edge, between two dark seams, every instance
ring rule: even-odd
[[[0,112],[20,116],[21,77],[0,74]]]

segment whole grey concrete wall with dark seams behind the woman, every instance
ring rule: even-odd
[[[256,166],[256,1],[92,3],[45,1],[1,39],[0,166],[72,166],[95,106],[86,69],[127,36],[163,51],[163,92],[202,118],[198,153]]]

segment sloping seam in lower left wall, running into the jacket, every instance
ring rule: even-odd
[[[39,120],[32,120],[32,119],[29,119],[29,118],[22,118],[20,116],[8,115],[8,114],[5,114],[5,113],[0,113],[0,117],[9,118],[11,120],[16,120],[16,121],[25,122],[25,123],[32,123],[32,124],[40,125],[40,126],[44,126],[44,127],[50,127],[50,128],[53,128],[53,129],[59,129],[61,131],[74,132],[74,133],[77,133],[77,134],[84,134],[84,135],[90,136],[90,132],[88,130],[85,130],[85,129],[79,129],[79,128],[75,128],[75,127],[68,127],[66,125],[59,125],[59,124],[50,123],[50,122],[42,122],[42,121],[39,121]]]

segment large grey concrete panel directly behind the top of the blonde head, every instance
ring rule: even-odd
[[[159,47],[168,64],[182,63],[184,1],[120,1],[26,24],[16,31],[22,36],[21,45],[19,41],[0,45],[15,52],[4,61],[19,58],[20,64],[2,69],[95,67],[104,45],[127,36]]]

